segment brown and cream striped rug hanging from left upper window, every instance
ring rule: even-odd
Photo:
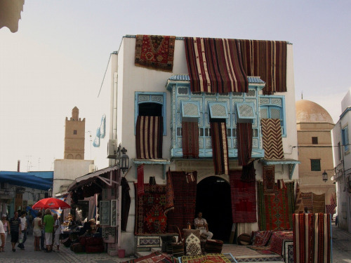
[[[138,116],[135,127],[137,159],[161,159],[163,139],[161,116]]]

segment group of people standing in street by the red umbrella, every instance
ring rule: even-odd
[[[3,214],[0,221],[0,238],[1,247],[0,252],[4,251],[6,238],[8,234],[11,235],[12,251],[15,252],[15,245],[18,243],[18,248],[25,249],[25,241],[27,240],[28,222],[25,211],[15,211],[11,220],[6,220],[6,214]],[[51,215],[51,210],[46,209],[45,215],[39,211],[37,217],[32,221],[33,235],[34,235],[34,250],[51,252],[53,245],[56,245],[57,251],[60,251],[60,234],[61,223],[57,214]],[[46,244],[46,248],[44,247]]]

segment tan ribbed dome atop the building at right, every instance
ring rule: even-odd
[[[310,100],[296,102],[296,121],[333,123],[330,114],[319,104]]]

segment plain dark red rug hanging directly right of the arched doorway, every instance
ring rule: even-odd
[[[257,222],[256,182],[241,181],[240,170],[230,170],[230,196],[232,198],[232,222]]]

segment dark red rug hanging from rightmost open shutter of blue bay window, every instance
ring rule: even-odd
[[[252,123],[237,123],[238,164],[246,166],[251,159]]]

